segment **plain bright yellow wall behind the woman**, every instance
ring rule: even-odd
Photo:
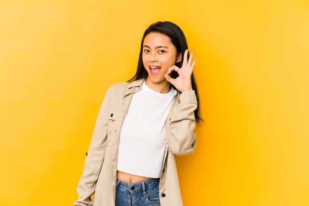
[[[169,20],[205,124],[177,157],[185,206],[309,205],[309,1],[0,1],[0,205],[67,206],[109,86]]]

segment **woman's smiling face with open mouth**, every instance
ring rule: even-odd
[[[167,69],[181,61],[181,54],[177,55],[176,47],[167,35],[152,32],[144,38],[142,59],[148,72],[147,79],[160,83],[166,81],[164,73]]]

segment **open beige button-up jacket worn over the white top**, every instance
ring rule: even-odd
[[[132,96],[141,89],[144,79],[111,86],[101,105],[85,165],[80,177],[76,206],[115,206],[118,145],[121,125]],[[178,91],[167,116],[164,166],[160,176],[161,206],[182,206],[175,155],[195,150],[195,92]],[[146,118],[146,117],[145,117]],[[93,202],[90,196],[94,194]]]

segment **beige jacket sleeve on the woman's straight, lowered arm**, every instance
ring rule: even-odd
[[[75,206],[92,206],[93,204],[91,195],[95,191],[107,145],[109,108],[110,98],[108,90],[97,116],[92,139],[86,154],[83,173],[78,182],[78,200],[74,202]]]

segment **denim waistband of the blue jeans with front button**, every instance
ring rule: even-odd
[[[141,182],[128,183],[117,179],[116,188],[128,191],[133,194],[138,192],[145,192],[146,188],[155,186],[159,181],[160,178],[151,178]]]

